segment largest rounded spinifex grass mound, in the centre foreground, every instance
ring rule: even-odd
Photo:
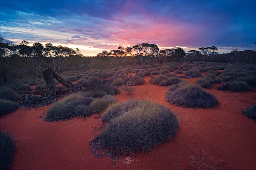
[[[92,142],[123,153],[150,150],[170,140],[178,129],[176,116],[164,105],[150,101],[128,100],[109,106],[103,116],[107,128]]]

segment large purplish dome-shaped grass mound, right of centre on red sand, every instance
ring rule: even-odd
[[[201,88],[189,84],[181,86],[179,83],[169,87],[166,99],[172,104],[186,107],[209,108],[218,104],[215,96]]]

